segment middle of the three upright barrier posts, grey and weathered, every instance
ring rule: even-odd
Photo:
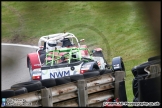
[[[85,79],[77,81],[79,107],[88,107],[87,81]]]

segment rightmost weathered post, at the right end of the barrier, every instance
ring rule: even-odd
[[[125,77],[124,71],[116,71],[115,72],[115,93],[114,97],[119,98],[119,82],[123,81]]]

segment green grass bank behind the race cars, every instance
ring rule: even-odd
[[[121,56],[130,102],[131,69],[158,55],[148,21],[136,2],[2,2],[1,21],[2,42],[37,45],[39,37],[65,30],[84,38],[90,49],[101,47],[109,63]]]

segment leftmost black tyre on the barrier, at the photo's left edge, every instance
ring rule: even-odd
[[[9,98],[15,96],[15,92],[12,89],[7,89],[7,90],[3,90],[1,91],[1,97],[2,98]]]

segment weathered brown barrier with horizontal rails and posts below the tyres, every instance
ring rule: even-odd
[[[116,77],[118,80],[116,80]],[[116,71],[81,79],[50,88],[10,97],[10,100],[24,99],[32,106],[102,106],[102,102],[118,95],[119,82],[124,81],[125,72]],[[24,106],[20,101],[14,101],[12,106]]]

